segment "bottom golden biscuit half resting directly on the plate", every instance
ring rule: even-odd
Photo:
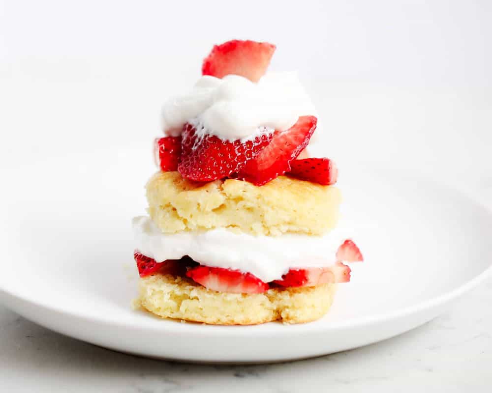
[[[322,317],[332,305],[337,285],[273,288],[259,294],[216,292],[170,275],[140,279],[137,303],[162,318],[213,325],[254,325],[280,321],[304,323]]]

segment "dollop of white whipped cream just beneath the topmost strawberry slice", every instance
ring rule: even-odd
[[[205,75],[162,109],[166,135],[179,135],[189,122],[231,141],[285,131],[304,115],[316,116],[316,111],[295,72],[269,73],[257,83],[239,75],[222,79]]]

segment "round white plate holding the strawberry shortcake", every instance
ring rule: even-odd
[[[160,320],[131,308],[130,218],[145,208],[148,151],[118,148],[11,168],[0,300],[62,334],[137,355],[270,362],[355,348],[437,316],[491,271],[491,214],[401,170],[341,167],[345,225],[366,261],[319,321],[249,327]]]

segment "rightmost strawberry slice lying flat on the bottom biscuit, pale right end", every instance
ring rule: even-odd
[[[341,262],[326,268],[291,269],[282,276],[282,280],[274,281],[281,286],[315,286],[327,282],[350,281],[350,268]]]

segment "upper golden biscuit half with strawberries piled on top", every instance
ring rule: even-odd
[[[322,235],[337,225],[340,193],[287,176],[258,187],[235,179],[199,183],[174,171],[149,180],[147,200],[165,233],[228,227],[254,235]]]

